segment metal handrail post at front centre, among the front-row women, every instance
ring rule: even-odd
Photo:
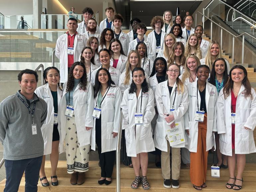
[[[119,121],[118,134],[117,134],[117,144],[116,144],[116,192],[121,191],[121,185],[120,185],[121,137],[122,137],[122,109],[120,108],[120,121]]]

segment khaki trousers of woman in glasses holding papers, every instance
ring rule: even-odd
[[[167,152],[161,152],[161,166],[162,166],[162,177],[164,179],[171,179],[171,167],[170,167],[170,150],[171,146],[168,140]],[[172,179],[178,180],[180,178],[181,170],[181,148],[172,147]]]

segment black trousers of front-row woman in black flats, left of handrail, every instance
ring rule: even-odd
[[[98,146],[101,177],[111,177],[115,162],[115,150],[101,153],[101,116],[95,121],[95,141]]]

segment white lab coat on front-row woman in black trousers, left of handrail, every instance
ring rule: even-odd
[[[112,85],[101,103],[101,153],[116,150],[117,137],[113,138],[112,132],[118,133],[120,123],[120,103],[122,99],[121,91],[118,86]],[[102,96],[102,98],[104,97]],[[98,99],[98,95],[95,98]],[[96,100],[94,99],[94,107]],[[97,107],[99,104],[97,104]],[[95,151],[95,118],[91,132],[91,149]]]

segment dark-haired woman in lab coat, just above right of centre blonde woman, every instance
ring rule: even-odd
[[[141,67],[144,69],[146,77],[149,78],[152,73],[153,60],[148,58],[148,49],[145,43],[138,43],[135,50],[140,54],[141,58]]]

